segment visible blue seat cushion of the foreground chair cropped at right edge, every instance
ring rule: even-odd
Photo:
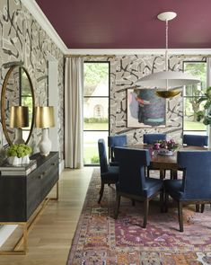
[[[181,180],[166,180],[164,181],[164,189],[171,195],[173,199],[182,199],[182,181]]]

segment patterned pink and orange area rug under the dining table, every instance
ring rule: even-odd
[[[158,200],[150,202],[146,228],[143,204],[133,207],[122,199],[114,220],[115,187],[106,186],[97,203],[100,171],[95,169],[87,191],[67,265],[197,265],[211,264],[211,208],[203,214],[183,208],[184,232],[180,233],[176,205],[161,213]]]

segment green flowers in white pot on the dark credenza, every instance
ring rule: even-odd
[[[8,156],[7,161],[11,165],[21,165],[30,163],[31,146],[25,144],[15,144],[10,146],[6,155]]]

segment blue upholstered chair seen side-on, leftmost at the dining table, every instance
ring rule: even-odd
[[[118,181],[119,167],[108,165],[105,141],[103,139],[98,140],[98,151],[99,151],[100,166],[101,166],[101,190],[100,190],[100,198],[98,200],[98,203],[100,203],[104,190],[104,185],[115,184]]]

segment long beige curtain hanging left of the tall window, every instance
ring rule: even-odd
[[[66,57],[65,167],[83,167],[83,59]]]

